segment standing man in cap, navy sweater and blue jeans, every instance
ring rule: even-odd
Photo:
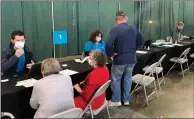
[[[112,99],[109,106],[121,106],[121,78],[123,77],[122,100],[129,105],[132,85],[132,72],[136,64],[136,50],[144,44],[144,37],[135,27],[127,24],[127,15],[124,11],[116,13],[116,23],[106,42],[106,53],[112,57],[111,89]]]

